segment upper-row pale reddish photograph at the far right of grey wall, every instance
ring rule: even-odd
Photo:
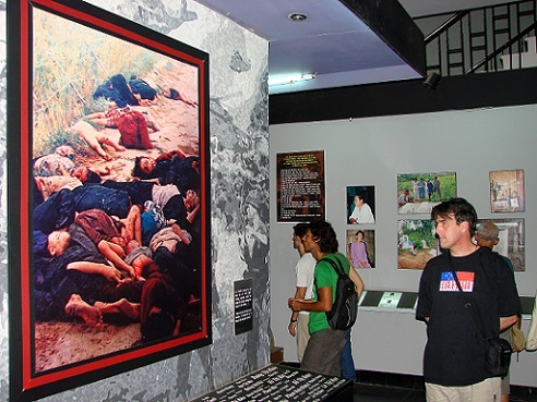
[[[489,172],[492,212],[524,212],[524,170]]]

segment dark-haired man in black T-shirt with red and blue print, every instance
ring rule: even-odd
[[[437,205],[431,219],[443,253],[423,269],[416,309],[427,324],[427,401],[499,401],[511,348],[498,338],[521,314],[514,273],[499,254],[472,242],[477,214],[466,199]],[[493,367],[492,346],[502,341],[509,349],[498,351],[503,358]]]

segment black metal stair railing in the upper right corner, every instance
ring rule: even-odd
[[[537,49],[530,39],[537,33],[536,2],[415,19],[422,31],[437,26],[425,38],[427,72],[449,76],[537,66]]]

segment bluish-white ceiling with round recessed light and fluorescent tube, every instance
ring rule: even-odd
[[[409,65],[339,0],[196,1],[268,40],[270,80],[317,73],[314,80],[271,86],[271,95],[422,76],[420,66]],[[377,4],[382,8],[390,1],[395,0],[377,0]],[[399,0],[411,17],[506,2],[510,0]],[[296,12],[308,19],[290,21],[288,15]],[[399,38],[405,41],[405,32]]]

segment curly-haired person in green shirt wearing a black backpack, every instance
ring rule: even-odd
[[[350,269],[347,258],[337,252],[336,234],[329,222],[312,222],[302,237],[302,244],[305,251],[313,255],[317,265],[312,299],[293,297],[288,300],[289,308],[294,312],[310,312],[308,325],[310,340],[300,367],[305,370],[338,377],[342,369],[341,357],[345,346],[345,332],[343,329],[334,329],[329,324],[327,313],[332,312],[332,306],[336,302],[339,278],[331,261],[341,266],[345,275],[353,280],[358,295],[363,290],[363,282],[359,279],[358,273]],[[356,309],[354,312],[356,313]]]

